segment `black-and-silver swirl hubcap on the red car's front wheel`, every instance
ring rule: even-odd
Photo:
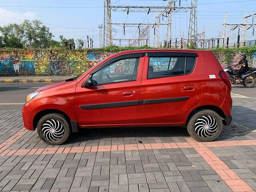
[[[50,119],[44,122],[42,132],[46,139],[57,141],[63,137],[64,127],[58,120]]]

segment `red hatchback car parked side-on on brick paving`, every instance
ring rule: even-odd
[[[186,126],[212,141],[232,120],[231,84],[210,50],[130,50],[26,98],[24,126],[59,145],[79,128]]]

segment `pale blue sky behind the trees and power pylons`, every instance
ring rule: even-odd
[[[177,0],[178,2],[179,0]],[[181,0],[181,6],[189,6],[190,0]],[[163,0],[111,0],[113,5],[130,6],[164,6],[168,1]],[[9,23],[21,23],[24,19],[41,20],[48,26],[54,35],[54,40],[59,36],[86,40],[89,35],[94,40],[94,47],[99,47],[99,28],[104,18],[104,0],[8,0],[0,2],[0,26]],[[178,4],[178,3],[177,3]],[[177,6],[177,5],[176,5]],[[64,8],[65,7],[65,8]],[[256,0],[198,0],[198,33],[205,27],[206,38],[218,38],[222,31],[224,12],[228,12],[228,23],[242,23],[244,10],[247,14],[256,13]],[[156,13],[132,13],[112,12],[113,23],[150,23],[155,22]],[[188,34],[190,12],[178,12],[173,15],[173,38],[181,38],[184,32]],[[256,23],[256,18],[255,23]],[[166,18],[161,19],[166,23]],[[252,22],[252,18],[248,19]],[[138,28],[126,28],[112,26],[114,38],[137,38]],[[242,30],[240,29],[240,32]],[[153,45],[153,28],[150,29],[150,45]],[[235,36],[238,29],[234,31]],[[227,28],[227,36],[230,35],[230,27]],[[160,40],[166,38],[166,26],[160,28]],[[236,39],[236,37],[235,37]],[[248,30],[247,40],[256,40],[252,35],[252,29]],[[119,44],[119,42],[114,42]],[[122,44],[125,45],[125,42]]]

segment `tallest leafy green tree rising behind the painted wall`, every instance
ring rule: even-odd
[[[42,25],[39,20],[24,20],[21,24],[24,30],[25,45],[32,48],[49,48],[50,41],[54,37],[50,28]]]

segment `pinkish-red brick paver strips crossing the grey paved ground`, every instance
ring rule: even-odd
[[[8,148],[19,138],[28,132],[22,128],[13,136],[0,144],[0,156],[23,156],[33,154],[60,154],[60,153],[86,153],[86,152],[110,152],[110,151],[129,151],[147,149],[171,149],[171,148],[194,148],[198,154],[212,167],[213,170],[226,182],[234,192],[252,192],[252,188],[244,182],[233,170],[231,170],[209,147],[228,147],[228,146],[252,146],[256,145],[256,140],[235,140],[235,141],[216,141],[198,142],[193,138],[186,138],[187,142],[172,143],[152,143],[152,144],[120,144],[106,146],[80,146],[80,147],[54,147],[54,148],[34,148],[34,149],[14,149]]]

